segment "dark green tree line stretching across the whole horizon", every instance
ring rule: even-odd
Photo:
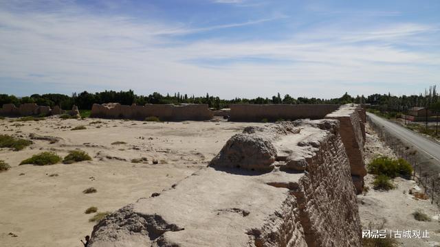
[[[316,97],[291,97],[289,94],[281,96],[280,93],[272,97],[256,97],[254,99],[236,97],[234,99],[221,99],[217,96],[187,95],[174,93],[162,95],[160,93],[151,93],[150,95],[136,95],[133,90],[129,91],[103,91],[98,93],[72,93],[72,95],[63,95],[58,93],[47,93],[43,95],[33,94],[26,97],[16,97],[14,95],[0,94],[0,106],[3,104],[15,104],[19,106],[25,103],[36,103],[39,106],[61,106],[63,109],[70,109],[73,105],[82,110],[90,110],[93,104],[120,103],[125,105],[137,104],[208,104],[210,108],[227,108],[229,104],[372,104],[380,107],[382,110],[400,111],[405,107],[428,106],[440,110],[439,94],[435,86],[430,86],[429,91],[420,95],[401,95],[395,96],[388,94],[373,94],[367,97],[357,95],[352,97],[344,93],[341,97],[333,99],[320,99]]]

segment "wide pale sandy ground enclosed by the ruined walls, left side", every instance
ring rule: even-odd
[[[87,129],[71,130],[80,125]],[[12,167],[0,173],[0,246],[81,246],[80,238],[89,235],[94,226],[88,221],[94,214],[85,214],[85,209],[96,206],[99,212],[114,211],[168,189],[206,166],[233,134],[245,126],[258,125],[224,121],[0,120],[0,134],[28,138],[36,133],[61,138],[53,144],[34,140],[19,152],[0,150],[0,160]],[[115,141],[125,143],[112,145]],[[52,150],[65,156],[76,149],[85,150],[93,160],[19,166],[32,154]],[[141,157],[148,161],[131,163],[132,158]],[[154,159],[159,161],[157,165],[153,165]],[[98,192],[83,193],[88,187]]]

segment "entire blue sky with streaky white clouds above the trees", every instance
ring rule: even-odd
[[[440,1],[0,0],[0,93],[340,97],[440,84]]]

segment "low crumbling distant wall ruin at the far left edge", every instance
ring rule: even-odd
[[[60,109],[58,106],[57,109]],[[19,107],[14,104],[3,104],[3,108],[0,109],[0,115],[8,116],[8,117],[24,117],[24,116],[36,116],[36,115],[56,115],[60,110],[57,110],[56,113],[52,113],[52,109],[50,106],[37,106],[34,103],[26,103],[21,104]]]

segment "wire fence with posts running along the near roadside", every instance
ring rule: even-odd
[[[414,145],[396,137],[384,126],[376,124],[368,116],[367,120],[380,139],[395,152],[397,158],[403,158],[412,165],[412,180],[423,187],[431,203],[435,202],[437,207],[440,207],[440,167],[436,161],[420,152]]]

